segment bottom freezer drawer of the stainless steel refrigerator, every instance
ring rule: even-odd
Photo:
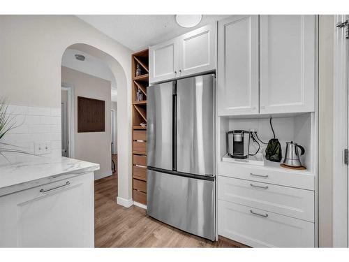
[[[147,214],[214,241],[215,182],[147,170]]]

